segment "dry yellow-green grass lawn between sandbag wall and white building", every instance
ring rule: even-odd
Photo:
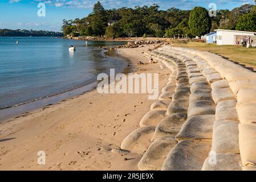
[[[216,44],[185,42],[182,40],[170,40],[173,46],[189,47],[201,51],[210,51],[224,56],[231,61],[244,64],[245,67],[252,67],[256,70],[256,48],[246,48],[237,46],[217,46]]]

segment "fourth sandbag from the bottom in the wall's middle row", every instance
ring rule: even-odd
[[[199,100],[211,100],[212,101],[212,89],[197,89],[190,94],[189,102],[199,101]]]

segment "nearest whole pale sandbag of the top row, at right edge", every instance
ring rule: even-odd
[[[256,167],[256,124],[239,124],[239,148],[243,166]]]

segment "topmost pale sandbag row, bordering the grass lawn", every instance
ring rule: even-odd
[[[243,170],[256,169],[256,154],[254,152],[256,144],[256,113],[254,111],[256,109],[256,74],[249,69],[243,68],[241,65],[235,64],[210,52],[184,48],[173,49],[179,49],[201,57],[210,65],[210,68],[220,73],[221,77],[227,81],[229,88],[226,88],[226,92],[222,96],[226,97],[227,92],[230,92],[229,89],[231,89],[231,92],[233,92],[237,100],[236,110],[238,119],[233,119],[239,120],[239,152],[242,160],[241,166]],[[221,89],[225,90],[225,88]],[[220,95],[221,93],[222,92],[217,92],[216,94]],[[234,104],[235,103],[230,103],[229,105]],[[225,106],[226,105],[224,105],[224,107]],[[233,125],[235,124],[233,123]],[[223,157],[228,158],[227,156]],[[233,156],[233,158],[235,158],[235,156]]]

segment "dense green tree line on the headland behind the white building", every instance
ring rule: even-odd
[[[172,7],[159,10],[159,6],[122,7],[105,10],[98,1],[91,14],[82,19],[63,20],[64,36],[120,37],[194,37],[205,35],[217,28],[256,31],[254,5],[243,5],[231,11],[218,10],[209,16],[204,7],[181,10]]]

